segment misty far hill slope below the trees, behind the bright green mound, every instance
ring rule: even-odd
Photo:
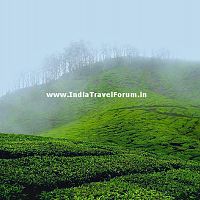
[[[132,105],[192,105],[199,108],[198,63],[136,59],[97,63],[47,85],[18,90],[0,99],[2,132],[35,133],[67,124],[90,111],[118,102]],[[147,99],[46,98],[46,92],[147,92]],[[20,113],[20,114],[19,114]]]

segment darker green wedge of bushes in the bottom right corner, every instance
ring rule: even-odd
[[[175,199],[198,199],[200,196],[200,171],[185,169],[125,177],[128,183],[154,189]]]

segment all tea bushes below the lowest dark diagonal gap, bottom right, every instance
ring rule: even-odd
[[[42,192],[42,200],[53,199],[199,199],[200,173],[188,169],[139,173],[85,184],[67,189]],[[81,197],[81,198],[80,198]]]

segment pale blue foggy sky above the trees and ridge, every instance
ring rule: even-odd
[[[199,60],[198,0],[1,0],[0,94],[71,41]]]

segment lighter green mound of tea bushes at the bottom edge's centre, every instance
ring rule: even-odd
[[[119,180],[85,184],[69,189],[56,189],[52,192],[43,192],[41,200],[171,200],[170,196],[155,190],[141,188]]]

